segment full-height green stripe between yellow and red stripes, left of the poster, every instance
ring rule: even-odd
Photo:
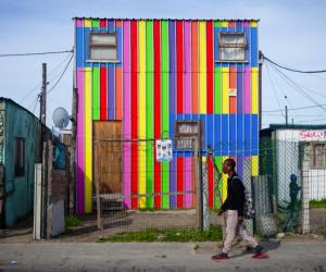
[[[146,137],[148,139],[154,138],[153,126],[153,22],[146,22]],[[146,148],[146,191],[153,194],[154,189],[154,143],[148,141]],[[153,197],[146,199],[147,208],[153,208]]]

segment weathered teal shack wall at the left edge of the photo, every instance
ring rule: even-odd
[[[2,102],[4,113],[5,191],[4,224],[12,226],[34,207],[34,169],[39,158],[40,126],[36,116],[20,106]],[[25,174],[14,175],[14,138],[25,139]]]

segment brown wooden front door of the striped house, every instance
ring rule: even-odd
[[[93,122],[93,177],[100,194],[122,193],[121,140],[121,121]]]

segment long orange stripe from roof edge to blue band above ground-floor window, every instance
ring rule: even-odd
[[[192,113],[198,111],[198,22],[191,23],[191,94],[192,94]]]

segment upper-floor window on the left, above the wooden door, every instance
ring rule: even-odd
[[[116,33],[90,33],[89,59],[91,61],[116,61]]]

